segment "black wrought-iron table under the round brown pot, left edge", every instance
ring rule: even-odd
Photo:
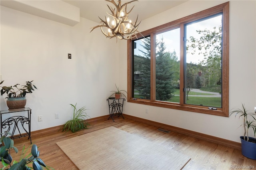
[[[24,111],[28,112],[28,117],[20,116],[21,115],[20,112],[24,112]],[[9,117],[8,119],[5,119],[4,121],[2,121],[3,114],[15,113],[15,112],[18,112],[18,116]],[[30,128],[31,127],[31,109],[29,107],[26,107],[24,109],[0,111],[0,121],[1,121],[1,133],[2,133],[2,129],[7,128],[7,130],[10,131],[11,127],[13,127],[10,138],[16,139],[16,138],[28,136],[28,139],[30,139],[30,144],[32,144],[31,131],[30,131],[31,130]],[[26,133],[21,134],[19,125],[21,125],[21,127],[25,130]],[[28,128],[26,128],[26,125],[28,125],[27,126]],[[14,132],[16,129],[18,129],[19,134],[14,136]]]

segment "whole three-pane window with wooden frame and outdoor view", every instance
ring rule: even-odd
[[[228,20],[227,2],[128,40],[128,102],[228,116]]]

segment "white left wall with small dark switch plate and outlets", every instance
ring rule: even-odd
[[[70,103],[86,106],[91,118],[108,114],[106,99],[119,79],[118,43],[100,29],[90,33],[97,24],[80,18],[72,27],[1,6],[1,86],[34,80],[38,90],[26,95],[32,131],[64,124],[72,116]],[[0,99],[0,109],[8,109]]]

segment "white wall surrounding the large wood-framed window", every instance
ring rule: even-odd
[[[224,2],[189,1],[143,20],[138,30],[142,32]],[[256,1],[230,1],[230,110],[241,107],[241,103],[245,103],[248,110],[254,110],[256,104],[255,11]],[[126,42],[120,42],[120,51],[126,51],[126,46]],[[127,57],[124,53],[120,56],[120,84],[126,87]],[[221,117],[136,103],[126,103],[124,113],[236,142],[240,142],[239,136],[243,134],[243,129],[238,128],[242,119],[235,119],[233,115]]]

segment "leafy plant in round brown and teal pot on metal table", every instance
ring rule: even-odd
[[[32,84],[32,81],[26,81],[26,85],[16,84],[14,86],[0,86],[2,88],[1,96],[4,95],[4,93],[7,94],[6,104],[9,109],[22,109],[25,107],[26,94],[32,93],[34,88],[37,89],[36,86]],[[3,82],[4,80],[0,82],[0,85]]]

